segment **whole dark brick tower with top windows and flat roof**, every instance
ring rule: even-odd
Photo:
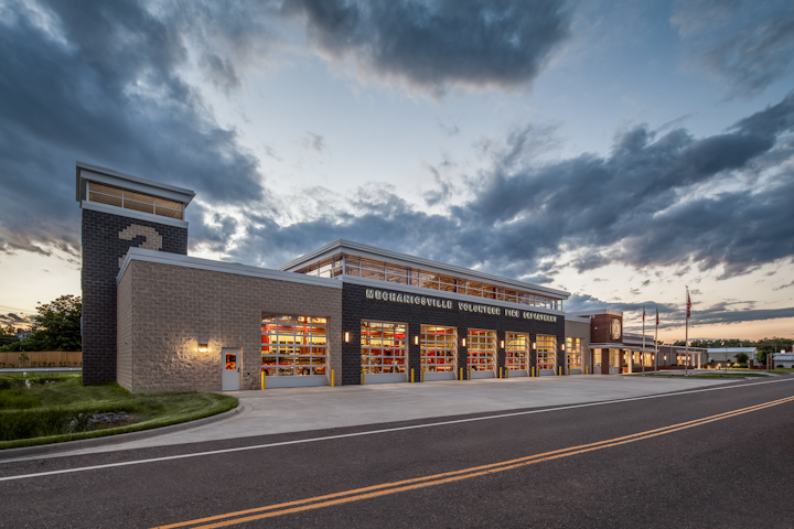
[[[83,209],[83,382],[116,380],[116,276],[129,248],[187,255],[195,193],[77,162]]]

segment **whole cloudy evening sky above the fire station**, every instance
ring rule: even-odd
[[[76,160],[190,253],[336,238],[794,336],[791,1],[0,0],[0,321],[79,294]]]

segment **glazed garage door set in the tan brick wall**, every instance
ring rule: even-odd
[[[325,375],[326,320],[262,316],[261,367],[267,376]]]

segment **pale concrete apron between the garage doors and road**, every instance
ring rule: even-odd
[[[726,380],[570,376],[337,388],[230,391],[244,411],[224,421],[58,455],[111,452],[434,417],[566,406],[727,384]]]

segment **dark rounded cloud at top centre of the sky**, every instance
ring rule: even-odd
[[[437,95],[530,84],[570,26],[556,0],[288,0],[285,12],[321,53]]]

